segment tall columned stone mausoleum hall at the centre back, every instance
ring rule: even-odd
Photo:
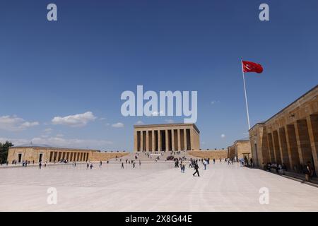
[[[134,151],[199,150],[200,131],[195,124],[134,126]]]

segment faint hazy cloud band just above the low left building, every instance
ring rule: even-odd
[[[85,140],[85,139],[66,139],[59,137],[36,137],[32,139],[15,139],[15,138],[0,138],[0,142],[11,141],[13,145],[45,145],[52,147],[63,147],[63,148],[95,148],[95,149],[106,149],[110,148],[112,141],[105,140]]]

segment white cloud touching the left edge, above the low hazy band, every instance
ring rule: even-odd
[[[25,121],[16,115],[0,117],[0,129],[5,131],[23,131],[38,124],[38,121]]]

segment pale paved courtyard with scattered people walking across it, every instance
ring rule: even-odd
[[[276,174],[216,162],[193,177],[173,162],[0,169],[0,211],[317,211],[318,189]],[[57,189],[57,204],[47,189]],[[259,189],[269,189],[269,204]]]

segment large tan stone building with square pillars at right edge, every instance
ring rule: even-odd
[[[249,130],[254,163],[284,163],[302,172],[311,162],[318,174],[318,85],[265,122]]]

